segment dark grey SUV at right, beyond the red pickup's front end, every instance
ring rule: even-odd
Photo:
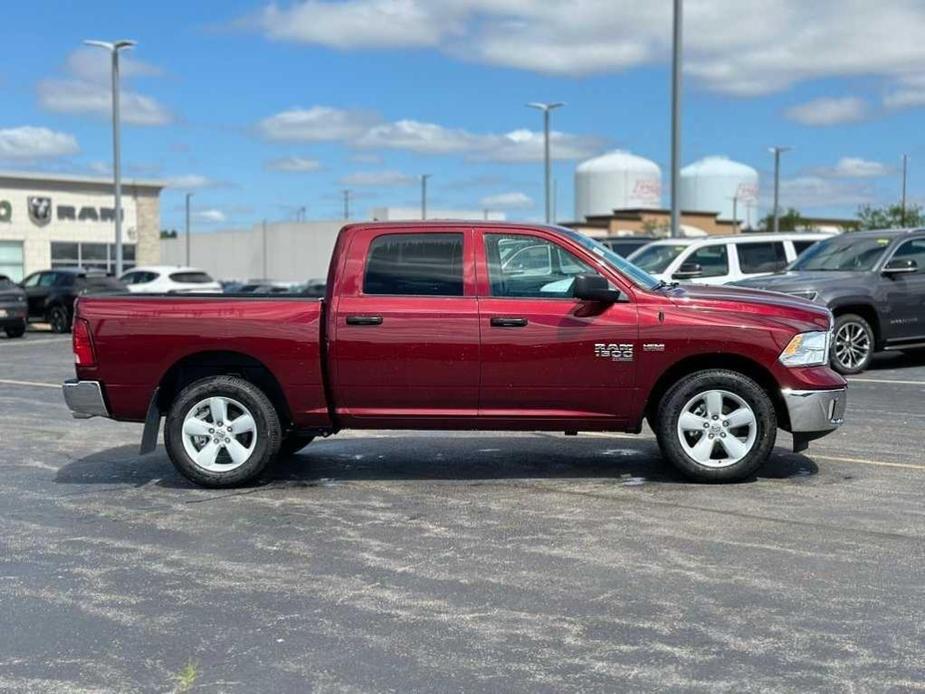
[[[732,284],[831,309],[832,368],[843,374],[866,369],[877,351],[925,347],[925,229],[845,233],[815,244],[786,272]]]

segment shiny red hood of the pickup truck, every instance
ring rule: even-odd
[[[829,310],[806,299],[772,291],[730,286],[681,285],[671,292],[676,306],[748,315],[755,323],[774,323],[797,331],[827,330]]]

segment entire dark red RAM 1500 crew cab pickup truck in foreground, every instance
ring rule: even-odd
[[[570,229],[429,221],[340,232],[323,299],[82,297],[76,417],[145,422],[201,485],[353,429],[655,431],[703,481],[836,429],[832,316],[769,292],[657,281]],[[413,455],[413,452],[409,452]]]

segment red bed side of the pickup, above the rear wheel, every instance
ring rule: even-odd
[[[252,361],[275,375],[296,427],[324,428],[323,313],[321,299],[304,297],[82,297],[75,319],[89,323],[97,359],[77,375],[103,384],[114,418],[144,421],[154,389],[177,369]]]

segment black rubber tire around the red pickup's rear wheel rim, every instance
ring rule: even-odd
[[[239,467],[222,472],[206,470],[198,465],[187,453],[183,442],[186,415],[197,403],[217,396],[235,400],[249,410],[254,418],[256,436],[250,457]],[[164,445],[174,467],[188,480],[203,487],[237,487],[255,480],[276,457],[281,439],[276,408],[262,390],[237,376],[210,376],[186,386],[171,405],[164,427]]]

